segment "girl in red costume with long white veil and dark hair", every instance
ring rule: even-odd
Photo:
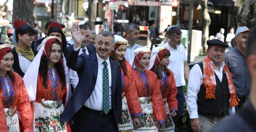
[[[60,38],[45,38],[24,75],[34,111],[34,132],[71,132],[69,122],[60,120],[71,91],[61,47]]]

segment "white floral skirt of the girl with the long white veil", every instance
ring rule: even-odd
[[[67,132],[66,122],[60,120],[63,111],[63,104],[50,109],[34,102],[34,132]]]

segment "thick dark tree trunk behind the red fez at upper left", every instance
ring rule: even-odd
[[[33,10],[34,0],[13,0],[12,23],[14,23],[14,20],[20,19],[31,27],[35,27]]]

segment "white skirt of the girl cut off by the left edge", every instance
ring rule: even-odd
[[[13,116],[6,116],[7,126],[9,127],[9,132],[19,132],[19,121],[17,113]]]

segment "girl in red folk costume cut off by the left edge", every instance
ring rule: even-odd
[[[32,132],[33,113],[27,89],[22,77],[10,71],[13,64],[11,48],[11,44],[0,45],[0,132],[20,132],[17,110],[24,132]]]

